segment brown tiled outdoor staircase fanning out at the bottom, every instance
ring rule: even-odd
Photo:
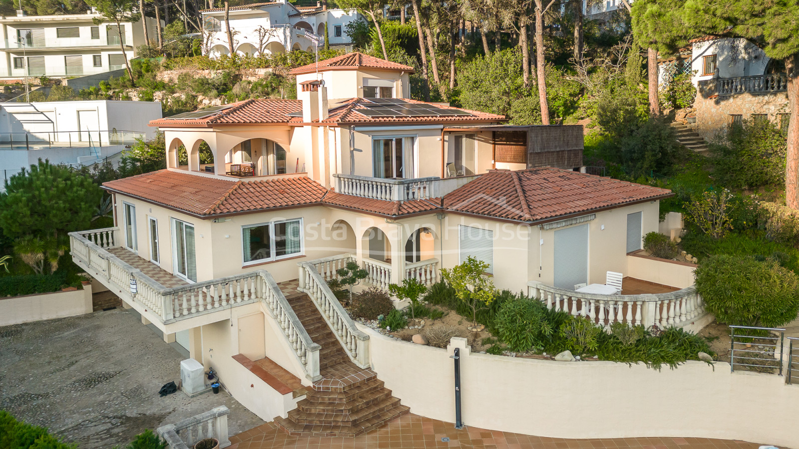
[[[275,419],[278,427],[294,436],[357,436],[410,411],[375,372],[350,361],[308,295],[293,293],[286,299],[311,340],[322,347],[322,379],[313,383],[288,418]]]

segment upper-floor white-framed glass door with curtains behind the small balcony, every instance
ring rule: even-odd
[[[417,177],[417,154],[416,136],[372,137],[372,177]]]

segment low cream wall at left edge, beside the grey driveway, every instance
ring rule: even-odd
[[[0,326],[53,320],[92,312],[92,285],[82,290],[0,298]]]

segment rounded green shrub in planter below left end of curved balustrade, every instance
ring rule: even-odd
[[[495,319],[499,338],[511,351],[543,348],[543,339],[553,329],[547,322],[547,306],[539,300],[518,299],[505,302]]]

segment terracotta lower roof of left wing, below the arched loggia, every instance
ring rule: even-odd
[[[103,188],[197,217],[320,204],[326,192],[308,177],[228,181],[169,170],[109,181]]]

